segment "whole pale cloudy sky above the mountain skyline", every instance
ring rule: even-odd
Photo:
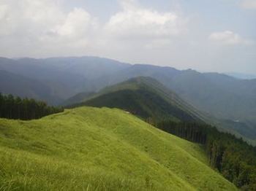
[[[256,0],[0,0],[0,56],[256,74]]]

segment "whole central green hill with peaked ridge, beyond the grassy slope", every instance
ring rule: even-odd
[[[80,96],[75,96],[76,98]],[[75,98],[74,97],[74,98]],[[81,99],[81,97],[80,97]],[[75,99],[72,99],[75,101]],[[124,109],[148,122],[165,119],[200,121],[203,115],[151,77],[136,77],[84,96],[73,106],[97,106]]]

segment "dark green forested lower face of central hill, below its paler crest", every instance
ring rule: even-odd
[[[96,106],[124,109],[136,116],[153,123],[153,121],[162,121],[169,119],[181,121],[199,120],[188,112],[170,104],[164,98],[149,90],[118,90],[111,93],[99,95],[80,104],[67,106],[74,108],[76,106]]]

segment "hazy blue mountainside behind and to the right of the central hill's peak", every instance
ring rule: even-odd
[[[255,79],[236,79],[225,74],[136,64],[101,80],[105,85],[110,85],[138,76],[157,79],[184,101],[211,115],[214,125],[256,139]]]

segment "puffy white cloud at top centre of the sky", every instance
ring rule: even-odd
[[[137,1],[121,1],[121,12],[110,17],[106,31],[119,39],[169,39],[186,31],[186,21],[176,12],[145,9]]]

